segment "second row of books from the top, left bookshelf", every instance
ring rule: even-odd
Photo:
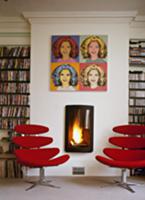
[[[30,69],[30,59],[0,59],[0,69]]]

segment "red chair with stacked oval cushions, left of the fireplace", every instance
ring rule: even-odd
[[[58,166],[69,159],[69,155],[67,154],[56,157],[59,153],[58,148],[44,148],[44,145],[48,145],[53,141],[52,138],[46,136],[34,136],[34,134],[38,135],[46,133],[48,130],[49,129],[45,126],[34,124],[17,125],[15,127],[16,133],[21,134],[21,136],[13,137],[14,144],[20,147],[14,152],[17,161],[23,166],[40,169],[39,180],[35,182],[30,181],[32,186],[26,190],[29,190],[38,184],[55,187],[49,183],[50,181],[45,179],[44,167]]]

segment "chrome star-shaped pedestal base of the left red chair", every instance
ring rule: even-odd
[[[28,187],[28,188],[26,189],[26,191],[28,191],[28,190],[34,188],[34,187],[37,186],[37,185],[43,185],[43,186],[48,186],[48,187],[53,187],[53,188],[60,188],[60,187],[58,187],[58,186],[55,186],[55,185],[50,184],[51,180],[47,180],[47,179],[45,178],[44,168],[43,168],[43,167],[40,168],[39,177],[40,177],[40,178],[39,178],[38,181],[27,181],[28,183],[31,183],[32,185],[31,185],[30,187]]]

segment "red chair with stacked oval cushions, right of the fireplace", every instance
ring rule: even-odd
[[[122,125],[114,127],[113,131],[124,136],[109,138],[109,142],[116,147],[105,148],[103,152],[106,156],[97,155],[96,159],[110,167],[121,168],[121,181],[117,184],[135,192],[127,183],[127,169],[145,167],[145,138],[140,137],[145,134],[145,126]]]

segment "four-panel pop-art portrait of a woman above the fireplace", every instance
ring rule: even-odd
[[[107,35],[51,37],[51,91],[107,90]]]

